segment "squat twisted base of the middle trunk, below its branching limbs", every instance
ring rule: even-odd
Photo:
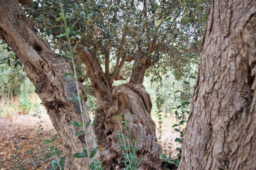
[[[157,143],[156,125],[150,117],[152,104],[145,88],[141,84],[121,84],[113,87],[111,95],[114,99],[113,104],[98,109],[95,119],[98,144],[104,147],[100,157],[106,169],[110,170],[116,166],[124,168],[123,155],[119,149],[120,141],[116,133],[120,130],[120,126],[118,119],[114,118],[115,115],[120,115],[124,120],[130,120],[128,129],[131,131],[128,135],[132,135],[131,142],[132,139],[138,140],[137,157],[145,159],[139,166],[139,170],[158,170],[162,150],[161,145]]]

